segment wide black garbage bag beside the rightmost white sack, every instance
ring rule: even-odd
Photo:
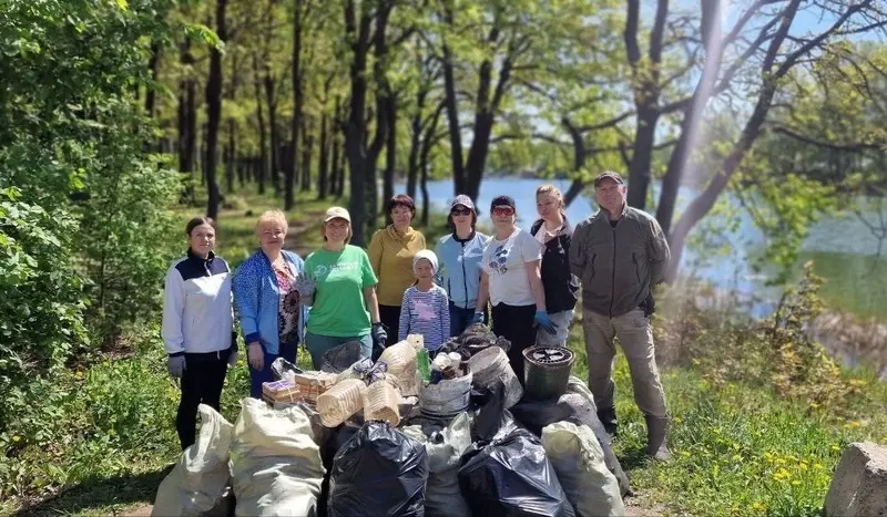
[[[575,515],[542,443],[519,427],[471,446],[459,466],[459,488],[472,515]]]

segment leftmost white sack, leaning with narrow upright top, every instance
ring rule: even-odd
[[[163,478],[152,516],[191,516],[213,509],[231,478],[228,445],[234,426],[206,404],[197,406],[201,432],[172,472]]]

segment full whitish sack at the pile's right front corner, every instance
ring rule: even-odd
[[[625,515],[619,483],[606,468],[603,449],[589,426],[571,422],[547,425],[542,446],[578,517]]]

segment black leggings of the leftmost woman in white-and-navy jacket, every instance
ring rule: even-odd
[[[230,355],[230,350],[220,354],[185,354],[182,399],[179,401],[179,413],[175,416],[175,428],[179,432],[182,451],[194,445],[197,406],[206,404],[215,411],[220,411],[222,386],[225,384]]]

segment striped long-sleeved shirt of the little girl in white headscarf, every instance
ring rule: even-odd
[[[440,286],[424,292],[416,286],[404,292],[400,303],[400,330],[397,340],[408,334],[421,334],[425,348],[437,350],[450,335],[450,310],[447,291]]]

